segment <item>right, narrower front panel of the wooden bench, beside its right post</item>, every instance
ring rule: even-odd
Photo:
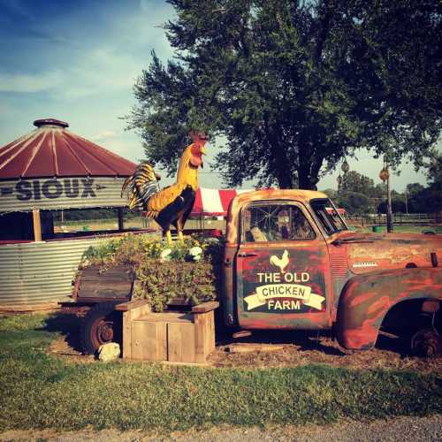
[[[167,360],[195,362],[194,324],[167,324]]]

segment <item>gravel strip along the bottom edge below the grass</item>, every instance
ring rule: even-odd
[[[107,441],[196,441],[252,442],[259,440],[296,442],[377,442],[413,441],[440,442],[442,415],[428,417],[395,417],[370,422],[339,421],[331,425],[271,426],[261,428],[213,427],[206,431],[182,431],[164,436],[143,431],[7,431],[0,433],[1,441],[48,440],[57,442],[95,440]]]

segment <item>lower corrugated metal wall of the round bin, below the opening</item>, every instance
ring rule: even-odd
[[[0,246],[0,309],[67,301],[81,256],[102,239]]]

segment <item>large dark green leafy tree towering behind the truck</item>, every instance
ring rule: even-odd
[[[224,135],[225,184],[314,188],[365,147],[423,164],[438,137],[438,0],[169,0],[129,126],[169,173],[190,128]]]

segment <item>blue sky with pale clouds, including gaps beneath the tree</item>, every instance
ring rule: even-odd
[[[73,133],[140,160],[141,138],[125,131],[120,118],[135,104],[133,83],[149,65],[150,51],[172,57],[161,25],[173,17],[160,0],[0,0],[0,146],[33,130],[34,119],[57,118]],[[349,163],[380,182],[381,160],[362,152]],[[426,181],[408,164],[400,170],[392,177],[398,191]],[[221,187],[208,171],[200,185]],[[335,188],[337,176],[328,175],[319,187]]]

